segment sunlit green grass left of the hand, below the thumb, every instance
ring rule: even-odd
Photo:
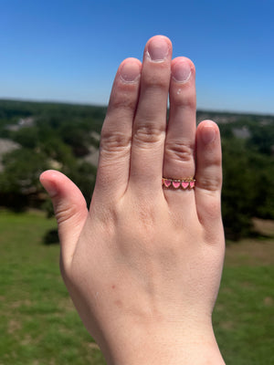
[[[59,275],[55,221],[0,212],[0,364],[105,364]],[[3,336],[4,335],[4,336]]]

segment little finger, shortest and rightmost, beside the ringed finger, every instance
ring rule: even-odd
[[[221,222],[222,152],[220,133],[211,120],[196,131],[195,202],[199,220],[207,227]]]

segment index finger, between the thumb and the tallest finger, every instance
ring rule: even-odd
[[[142,64],[127,58],[117,71],[100,135],[100,159],[93,198],[122,195],[126,190],[132,148],[132,122]]]

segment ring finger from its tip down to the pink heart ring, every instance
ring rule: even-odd
[[[195,129],[195,66],[190,59],[177,57],[172,63],[170,116],[163,161],[164,177],[183,180],[194,176]],[[173,191],[169,189],[166,192]]]

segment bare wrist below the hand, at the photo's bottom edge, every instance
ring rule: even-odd
[[[178,327],[121,328],[102,351],[109,365],[225,364],[211,325]]]

